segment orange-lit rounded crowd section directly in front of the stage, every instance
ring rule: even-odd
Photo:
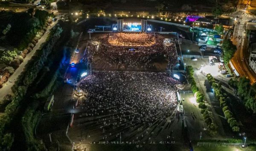
[[[117,46],[147,46],[154,42],[156,34],[117,33],[109,34],[109,40]]]

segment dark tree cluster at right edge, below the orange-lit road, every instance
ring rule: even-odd
[[[246,77],[239,79],[230,79],[228,84],[236,89],[237,94],[244,103],[248,111],[256,113],[256,84],[251,85]]]

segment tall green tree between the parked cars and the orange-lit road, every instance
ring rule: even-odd
[[[224,63],[228,63],[230,59],[233,57],[236,52],[236,46],[230,41],[230,39],[225,39],[222,44],[222,48],[224,51],[223,58]]]

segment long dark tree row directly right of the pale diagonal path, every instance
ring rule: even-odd
[[[22,100],[27,93],[27,88],[34,82],[37,74],[47,61],[47,57],[52,52],[52,48],[61,37],[62,28],[54,27],[51,32],[54,34],[50,34],[49,41],[45,43],[41,50],[36,51],[35,56],[29,61],[24,71],[17,78],[15,85],[12,87],[14,95],[11,98],[11,103],[6,106],[5,113],[0,117],[0,142],[2,142],[0,144],[0,150],[10,150],[14,136],[10,133],[8,128],[17,114],[18,108],[20,108]],[[29,112],[27,114],[29,114]],[[26,121],[22,121],[23,124],[25,124],[25,122]],[[35,121],[31,119],[29,120],[29,123],[30,122],[34,123]]]

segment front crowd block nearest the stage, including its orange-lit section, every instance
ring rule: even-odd
[[[136,35],[136,36],[131,36]],[[151,46],[113,46],[109,43],[109,38],[117,38],[120,43],[150,43],[155,41]],[[123,38],[120,38],[123,37]],[[138,40],[140,39],[140,40]],[[109,34],[106,37],[99,38],[99,50],[94,54],[100,56],[109,66],[120,65],[125,68],[154,68],[154,62],[166,60],[171,66],[177,64],[177,50],[175,43],[169,46],[163,44],[163,37],[158,34]],[[90,55],[91,56],[91,55]],[[169,56],[169,58],[168,58]],[[93,60],[93,59],[90,59]]]

